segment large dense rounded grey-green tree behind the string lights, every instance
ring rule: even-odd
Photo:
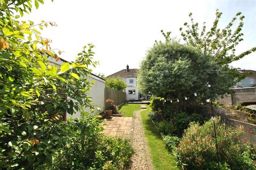
[[[206,103],[209,98],[210,82],[213,99],[228,92],[234,77],[229,73],[228,66],[218,64],[210,55],[204,55],[194,47],[181,45],[177,42],[166,42],[155,45],[141,63],[138,74],[139,90],[148,91],[158,97],[175,99],[194,94],[197,97],[186,100],[186,106]],[[180,105],[185,99],[180,99]],[[186,109],[185,105],[180,107]]]

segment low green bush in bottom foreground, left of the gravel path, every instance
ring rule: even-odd
[[[70,143],[54,155],[49,169],[124,169],[133,153],[129,140],[106,137],[98,117],[67,122]]]

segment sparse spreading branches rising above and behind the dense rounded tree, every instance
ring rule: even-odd
[[[241,54],[235,54],[236,46],[243,41],[242,37],[244,35],[242,29],[245,16],[241,12],[236,13],[235,17],[223,29],[218,27],[222,13],[216,10],[215,15],[216,18],[212,27],[209,31],[206,31],[205,22],[202,29],[199,29],[198,22],[195,22],[192,18],[192,13],[189,13],[190,24],[185,22],[183,24],[185,28],[180,28],[181,36],[186,44],[201,49],[205,55],[213,56],[219,63],[224,65],[256,51],[256,47],[253,47]],[[234,25],[237,25],[236,28],[234,28]],[[167,35],[163,33],[163,35],[166,41],[171,41],[170,32],[167,32]]]

